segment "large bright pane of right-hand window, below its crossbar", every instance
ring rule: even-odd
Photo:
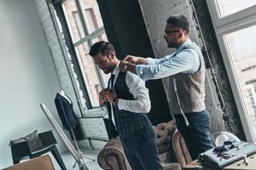
[[[230,53],[231,65],[246,105],[248,124],[256,137],[256,26],[235,31],[224,36]],[[248,38],[248,35],[250,38]]]

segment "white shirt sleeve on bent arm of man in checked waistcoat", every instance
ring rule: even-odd
[[[151,109],[151,103],[145,82],[129,71],[126,74],[125,81],[134,100],[119,99],[119,110],[148,113]]]

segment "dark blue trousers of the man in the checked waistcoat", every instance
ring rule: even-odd
[[[120,137],[125,156],[133,170],[160,170],[160,158],[153,127],[143,129],[127,137]]]

